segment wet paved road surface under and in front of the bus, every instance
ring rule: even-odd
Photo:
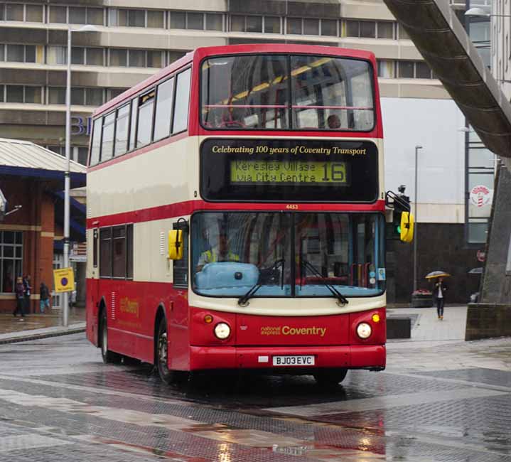
[[[0,345],[0,359],[0,461],[511,462],[510,338],[389,343],[386,371],[333,389],[166,387],[144,365],[103,365],[82,333]]]

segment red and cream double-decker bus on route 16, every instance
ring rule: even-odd
[[[94,114],[87,338],[179,371],[385,367],[375,56],[198,48]]]

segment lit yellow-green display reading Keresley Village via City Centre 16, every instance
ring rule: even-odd
[[[230,171],[231,184],[348,185],[345,162],[235,160]]]

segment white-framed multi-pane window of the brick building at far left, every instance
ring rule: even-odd
[[[23,232],[0,231],[0,259],[0,292],[11,294],[23,275]]]

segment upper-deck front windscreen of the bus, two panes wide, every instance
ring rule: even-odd
[[[202,65],[201,122],[209,129],[369,131],[370,63],[314,55],[240,55]]]

